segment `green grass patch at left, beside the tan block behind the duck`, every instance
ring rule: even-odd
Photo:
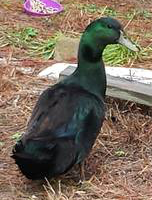
[[[21,30],[0,31],[0,47],[14,46],[26,50],[29,56],[53,58],[54,47],[62,34],[57,32],[46,40],[39,37],[39,31],[32,27]]]

